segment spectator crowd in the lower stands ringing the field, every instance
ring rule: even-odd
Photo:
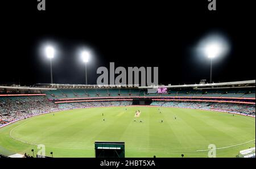
[[[94,101],[55,104],[46,96],[20,96],[0,98],[0,126],[9,122],[42,113],[61,111],[65,109],[76,109],[86,107],[109,107],[132,105],[132,101]],[[219,103],[219,102],[189,102],[189,101],[154,101],[150,105],[162,107],[180,107],[209,109],[225,112],[245,113],[255,116],[255,104]]]

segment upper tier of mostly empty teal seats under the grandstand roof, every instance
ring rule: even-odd
[[[46,91],[49,99],[64,98],[97,98],[108,96],[187,96],[187,97],[226,97],[226,98],[255,98],[255,91],[249,90],[169,90],[167,94],[148,94],[147,90],[139,88],[89,88],[89,89],[61,89]]]

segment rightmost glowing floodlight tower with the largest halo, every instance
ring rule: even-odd
[[[205,47],[205,54],[210,58],[210,83],[212,83],[212,60],[221,53],[221,46],[218,43],[210,43]]]

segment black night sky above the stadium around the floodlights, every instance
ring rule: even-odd
[[[171,2],[171,3],[170,3]],[[84,84],[79,50],[89,48],[88,83],[95,84],[100,66],[158,66],[159,83],[209,82],[210,61],[195,52],[212,32],[225,36],[230,52],[213,61],[213,82],[255,79],[255,36],[250,4],[217,1],[52,1],[46,11],[37,2],[1,3],[0,84],[49,83],[46,43],[57,50],[53,82]],[[255,15],[254,15],[255,16]]]

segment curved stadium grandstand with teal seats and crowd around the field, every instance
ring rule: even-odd
[[[158,92],[154,88],[167,88],[167,91]],[[66,109],[134,104],[208,109],[255,117],[255,81],[154,87],[42,83],[32,87],[0,86],[0,126]]]

